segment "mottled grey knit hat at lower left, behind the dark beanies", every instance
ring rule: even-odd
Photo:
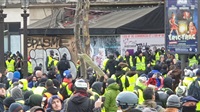
[[[22,90],[18,87],[14,87],[11,89],[11,96],[16,99],[24,99],[24,96],[22,94]]]

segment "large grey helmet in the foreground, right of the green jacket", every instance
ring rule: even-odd
[[[117,95],[116,103],[122,110],[126,110],[129,107],[136,107],[138,104],[138,96],[133,92],[124,91]]]

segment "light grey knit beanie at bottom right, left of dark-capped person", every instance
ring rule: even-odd
[[[167,99],[167,107],[180,108],[180,99],[177,95],[170,95]]]

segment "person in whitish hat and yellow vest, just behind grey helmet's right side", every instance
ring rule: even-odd
[[[138,104],[142,104],[144,102],[143,91],[147,87],[146,81],[147,81],[146,77],[139,77],[136,81],[134,93],[136,93],[139,98]]]

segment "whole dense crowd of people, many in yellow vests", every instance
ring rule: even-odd
[[[50,51],[47,73],[36,66],[23,76],[7,62],[0,74],[0,112],[200,112],[198,57],[188,55],[182,71],[177,54],[138,47],[134,54],[109,54],[104,76],[92,67],[81,74],[78,61],[76,78],[66,54],[58,59]]]

